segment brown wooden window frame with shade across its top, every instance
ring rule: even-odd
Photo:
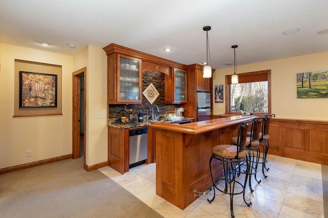
[[[231,76],[226,75],[226,114],[240,114],[240,112],[230,111],[229,105],[231,100],[230,93],[230,84],[231,84]],[[253,72],[244,72],[242,74],[238,74],[239,83],[252,83],[252,82],[262,82],[268,81],[268,113],[254,113],[254,115],[263,115],[263,114],[271,114],[271,69],[261,70],[261,71],[253,71]]]

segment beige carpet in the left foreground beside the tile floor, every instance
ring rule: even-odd
[[[0,216],[162,217],[83,158],[0,175]]]

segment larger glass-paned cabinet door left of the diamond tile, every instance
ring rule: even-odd
[[[118,54],[117,61],[117,103],[141,104],[141,60]]]

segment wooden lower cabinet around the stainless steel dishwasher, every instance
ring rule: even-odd
[[[129,130],[143,127],[119,129],[108,127],[108,166],[124,174],[129,171]],[[155,162],[155,150],[151,130],[148,131],[148,158],[146,163]]]

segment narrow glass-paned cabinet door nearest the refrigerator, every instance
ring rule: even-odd
[[[174,102],[187,103],[187,73],[186,70],[174,69]]]

